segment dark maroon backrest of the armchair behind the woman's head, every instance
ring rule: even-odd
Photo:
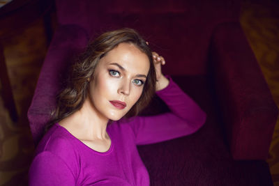
[[[162,54],[169,75],[204,75],[213,29],[239,22],[240,0],[56,0],[59,24],[82,26],[91,38],[130,27]]]

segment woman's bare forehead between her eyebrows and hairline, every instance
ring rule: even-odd
[[[119,63],[127,71],[143,75],[147,75],[149,72],[148,56],[130,43],[120,43],[100,59],[100,63],[103,65]]]

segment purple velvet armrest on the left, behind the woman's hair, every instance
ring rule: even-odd
[[[87,42],[87,33],[80,26],[63,25],[56,29],[27,113],[35,144],[38,144],[43,136],[44,126],[55,108],[63,71],[67,69],[70,61],[73,61],[73,57],[84,49]]]

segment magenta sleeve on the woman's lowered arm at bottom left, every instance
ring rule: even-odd
[[[36,155],[29,169],[29,185],[75,185],[73,172],[49,151]]]

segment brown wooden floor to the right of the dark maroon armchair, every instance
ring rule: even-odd
[[[243,3],[241,26],[279,107],[279,1],[269,6]],[[274,185],[279,186],[279,118],[269,148],[269,159],[266,161]]]

